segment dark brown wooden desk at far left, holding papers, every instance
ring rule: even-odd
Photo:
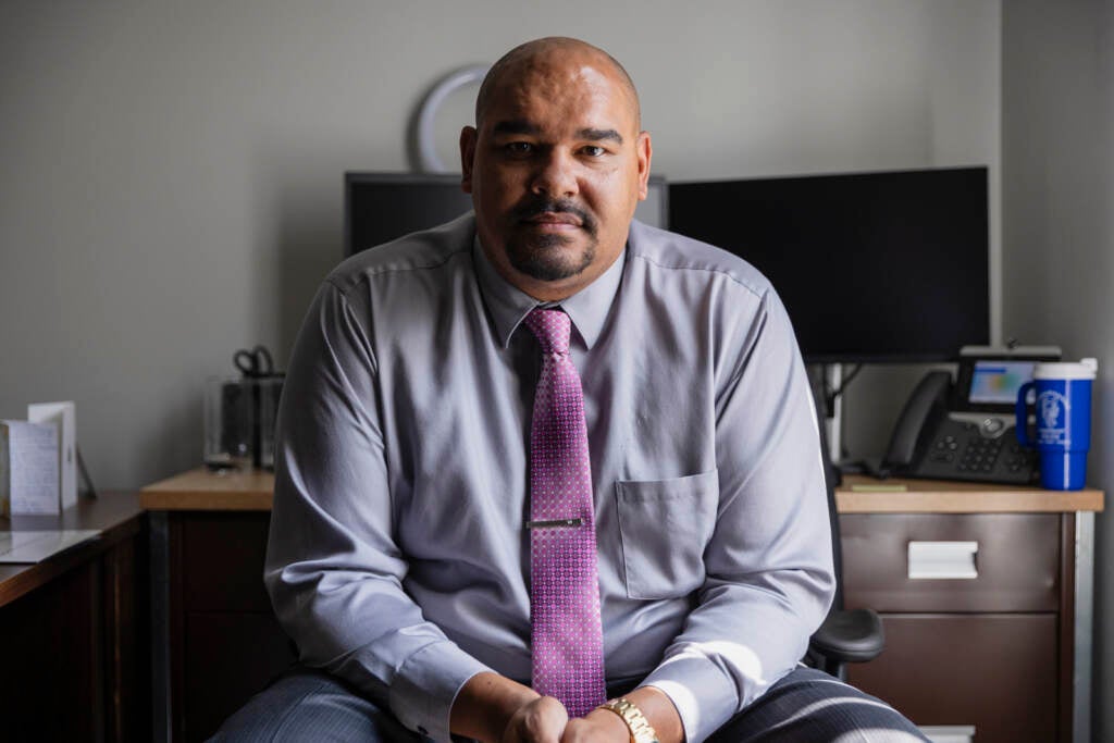
[[[135,493],[0,519],[4,531],[101,531],[41,563],[0,565],[3,740],[146,740],[144,525]]]

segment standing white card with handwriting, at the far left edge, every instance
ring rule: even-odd
[[[58,514],[58,429],[0,421],[7,430],[6,483],[12,514]]]

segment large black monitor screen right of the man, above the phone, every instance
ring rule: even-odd
[[[764,273],[807,361],[944,361],[989,340],[985,167],[674,183],[670,228]]]

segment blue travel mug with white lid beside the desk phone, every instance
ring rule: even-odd
[[[1039,363],[1033,370],[1033,381],[1017,390],[1017,441],[1023,447],[1036,447],[1040,485],[1048,490],[1078,490],[1086,481],[1091,385],[1097,370],[1095,359]],[[1028,436],[1029,390],[1036,392],[1036,441]]]

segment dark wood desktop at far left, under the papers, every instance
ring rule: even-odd
[[[13,516],[0,519],[0,530],[99,529],[100,536],[31,565],[0,565],[0,606],[35,590],[75,565],[105,551],[143,528],[144,510],[134,492],[102,492],[80,498],[58,516]]]

